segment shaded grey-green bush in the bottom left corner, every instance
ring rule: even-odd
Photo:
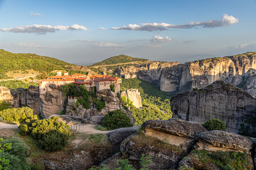
[[[29,147],[17,137],[4,140],[3,145],[6,143],[12,143],[12,148],[1,152],[0,157],[4,156],[9,159],[8,169],[30,170],[30,163],[28,162]]]

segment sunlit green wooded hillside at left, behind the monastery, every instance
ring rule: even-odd
[[[0,49],[0,79],[8,78],[6,73],[15,70],[30,70],[50,72],[66,70],[65,65],[73,65],[48,56],[36,54],[11,53]]]

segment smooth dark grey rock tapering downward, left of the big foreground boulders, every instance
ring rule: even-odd
[[[114,131],[107,133],[107,137],[109,138],[110,146],[114,148],[115,152],[120,150],[120,144],[125,140],[128,136],[131,136],[137,132],[137,128],[135,127],[124,127],[118,128]]]

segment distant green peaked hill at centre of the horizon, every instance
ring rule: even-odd
[[[129,63],[132,61],[147,61],[148,59],[140,59],[140,58],[134,58],[127,55],[116,55],[112,56],[111,58],[108,58],[106,60],[103,60],[99,63],[95,63],[91,66],[97,66],[97,65],[111,65],[111,64],[120,64],[120,63]]]

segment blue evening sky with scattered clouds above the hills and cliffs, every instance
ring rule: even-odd
[[[0,49],[68,63],[194,61],[256,51],[256,0],[0,0]]]

